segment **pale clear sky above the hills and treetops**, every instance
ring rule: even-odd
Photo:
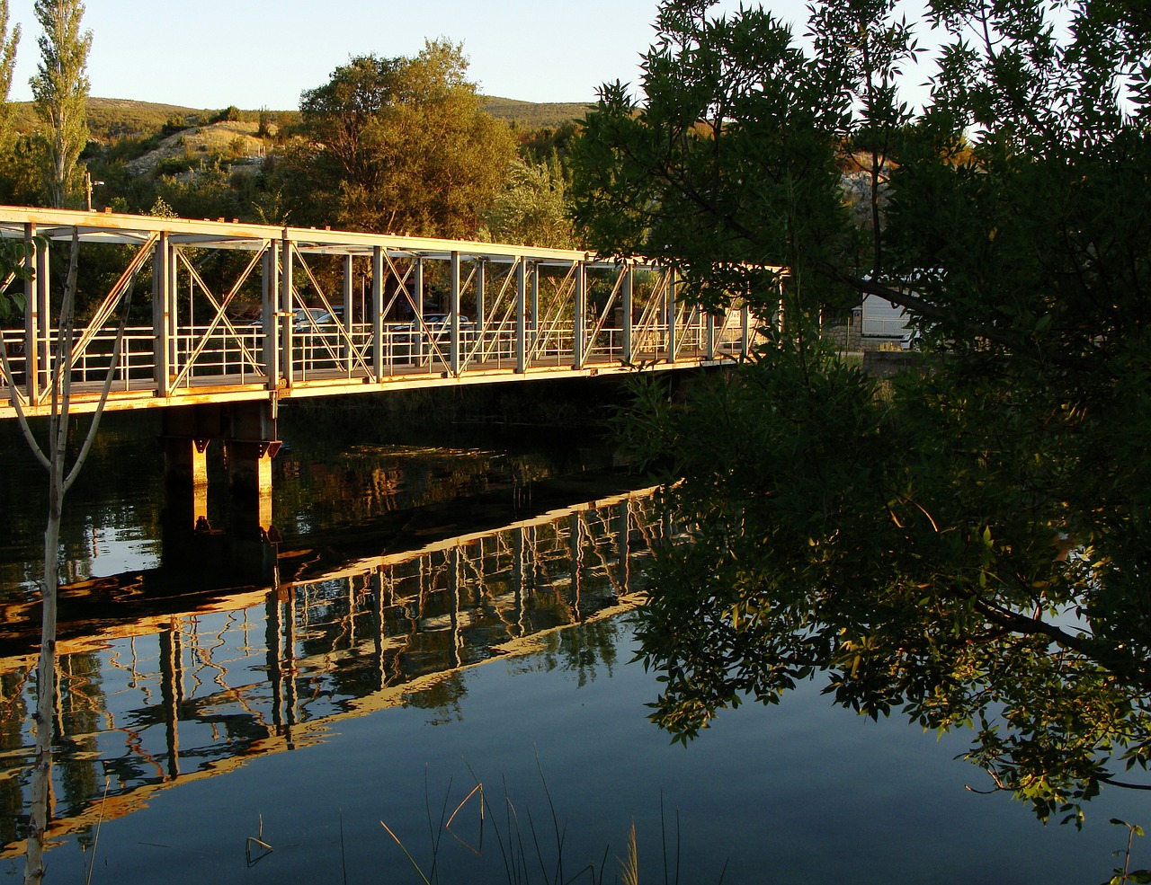
[[[592,102],[610,80],[639,80],[657,0],[86,0],[93,98],[197,109],[295,110],[303,90],[327,83],[355,55],[416,55],[425,39],[464,44],[486,95]],[[763,3],[806,20],[805,0]],[[735,11],[719,0],[714,13]],[[578,9],[578,11],[576,11]],[[28,101],[40,52],[33,0],[9,0],[20,24],[9,100]]]

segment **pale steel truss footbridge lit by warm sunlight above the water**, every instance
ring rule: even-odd
[[[2,332],[0,418],[15,398],[51,410],[52,257],[74,238],[82,261],[123,268],[77,330],[74,411],[97,407],[109,372],[109,409],[265,400],[274,415],[297,397],[717,364],[754,336],[741,299],[703,314],[677,300],[668,267],[581,252],[25,207],[0,207],[0,237],[37,246],[23,326]],[[147,276],[152,322],[129,325],[117,353]]]

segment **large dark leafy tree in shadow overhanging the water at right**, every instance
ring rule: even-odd
[[[573,147],[596,248],[752,298],[767,336],[686,403],[641,390],[627,431],[695,538],[642,615],[654,716],[686,739],[820,674],[867,715],[970,726],[992,788],[1078,821],[1151,755],[1151,17],[937,0],[913,114],[898,7],[818,3],[803,51],[708,6],[661,6],[646,99],[605,86]],[[874,230],[843,206],[856,148]],[[929,351],[882,385],[818,334],[869,292]]]

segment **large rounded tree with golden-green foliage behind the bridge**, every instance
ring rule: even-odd
[[[474,237],[514,156],[459,46],[352,59],[300,99],[303,143],[281,164],[295,223]]]

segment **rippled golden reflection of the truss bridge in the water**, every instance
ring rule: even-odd
[[[346,716],[450,705],[451,671],[634,605],[642,561],[669,539],[650,491],[359,557],[190,611],[105,613],[60,644],[52,834],[317,740]],[[31,652],[0,659],[0,856],[23,851],[33,683]]]

